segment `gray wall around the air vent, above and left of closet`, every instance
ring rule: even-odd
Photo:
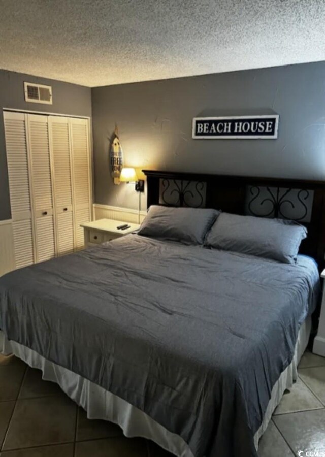
[[[52,86],[53,105],[25,102],[24,81]],[[89,87],[0,70],[0,220],[11,217],[3,108],[91,116],[91,91]]]

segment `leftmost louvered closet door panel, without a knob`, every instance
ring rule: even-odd
[[[34,263],[26,142],[26,115],[4,111],[16,268]]]

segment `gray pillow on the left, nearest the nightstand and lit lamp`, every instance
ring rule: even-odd
[[[206,233],[219,214],[214,209],[152,205],[138,234],[186,244],[203,244]]]

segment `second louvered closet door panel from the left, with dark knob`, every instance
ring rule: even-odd
[[[27,120],[36,262],[43,262],[55,256],[48,116],[28,114]]]

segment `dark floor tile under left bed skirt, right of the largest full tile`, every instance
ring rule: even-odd
[[[86,412],[79,408],[77,441],[95,440],[98,438],[109,438],[123,436],[122,429],[115,423],[106,420],[87,419]]]

